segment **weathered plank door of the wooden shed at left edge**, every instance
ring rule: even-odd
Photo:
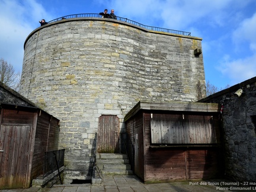
[[[0,127],[0,189],[25,187],[31,126]]]

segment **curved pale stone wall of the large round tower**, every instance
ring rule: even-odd
[[[197,101],[206,94],[201,39],[122,21],[74,18],[25,40],[21,94],[60,119],[66,182],[87,179],[98,118],[123,118],[140,100]]]

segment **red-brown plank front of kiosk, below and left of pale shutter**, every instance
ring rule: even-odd
[[[143,181],[147,183],[190,178],[217,178],[223,175],[222,151],[217,147],[151,148],[151,123],[149,123],[151,114],[145,113],[143,117],[145,126],[145,179]]]

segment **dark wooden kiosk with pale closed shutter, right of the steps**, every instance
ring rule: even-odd
[[[140,101],[125,117],[127,153],[145,183],[219,178],[220,106]]]

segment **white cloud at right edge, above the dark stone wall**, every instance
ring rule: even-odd
[[[244,49],[251,50],[252,54],[249,56],[237,55],[231,58],[230,56],[224,56],[223,62],[220,63],[218,68],[220,72],[227,78],[231,79],[233,84],[245,81],[246,79],[256,76],[256,14],[251,18],[246,18],[242,21],[238,28],[233,31],[232,40],[236,46],[236,53],[241,53]]]

